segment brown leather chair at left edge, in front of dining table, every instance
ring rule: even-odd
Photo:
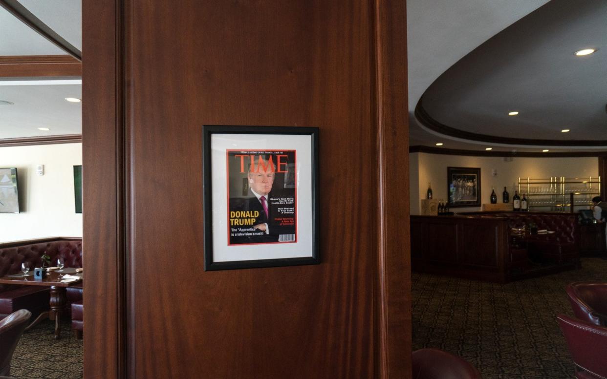
[[[0,375],[10,375],[10,360],[32,312],[19,309],[0,320]]]

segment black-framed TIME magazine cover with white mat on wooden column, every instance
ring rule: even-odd
[[[320,263],[318,134],[203,126],[205,271]]]

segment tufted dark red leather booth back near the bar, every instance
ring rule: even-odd
[[[500,216],[508,219],[508,227],[518,227],[522,224],[535,223],[537,229],[554,230],[550,237],[552,241],[561,244],[577,244],[580,240],[580,227],[577,214],[560,212],[468,212],[464,215]]]

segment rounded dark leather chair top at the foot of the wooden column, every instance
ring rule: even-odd
[[[481,374],[472,364],[438,349],[419,349],[413,352],[413,379],[480,379]]]

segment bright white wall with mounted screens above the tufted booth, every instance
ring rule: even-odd
[[[36,165],[44,164],[44,175]],[[21,213],[0,213],[0,243],[47,236],[82,236],[76,213],[73,166],[82,144],[0,147],[0,167],[16,167]]]

